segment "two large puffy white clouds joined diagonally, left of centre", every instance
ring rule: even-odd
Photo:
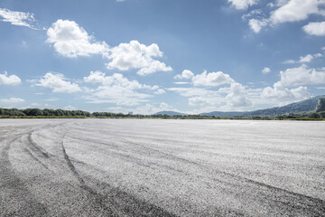
[[[155,59],[163,57],[163,52],[156,43],[146,46],[138,41],[131,41],[109,48],[106,42],[96,42],[79,24],[70,20],[58,20],[53,23],[47,30],[47,35],[46,42],[53,44],[55,51],[65,57],[102,54],[109,60],[108,69],[136,69],[139,75],[172,71],[172,67]]]

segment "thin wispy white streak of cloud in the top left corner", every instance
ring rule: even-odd
[[[1,21],[9,22],[13,25],[26,26],[33,29],[32,23],[35,21],[33,14],[14,12],[5,8],[0,8],[0,16],[3,17]]]

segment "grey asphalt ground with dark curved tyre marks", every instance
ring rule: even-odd
[[[325,216],[325,122],[0,119],[0,216]]]

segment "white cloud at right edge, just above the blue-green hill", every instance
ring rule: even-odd
[[[280,71],[280,76],[283,87],[325,83],[325,69],[316,71],[308,69],[304,64],[297,68]]]

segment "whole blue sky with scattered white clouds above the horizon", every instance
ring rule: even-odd
[[[325,0],[1,0],[0,108],[243,111],[325,93]]]

